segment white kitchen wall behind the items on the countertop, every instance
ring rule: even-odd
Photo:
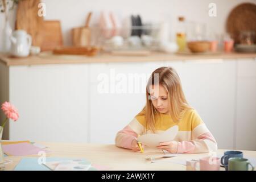
[[[82,26],[86,14],[94,11],[113,10],[123,17],[130,14],[141,14],[144,21],[160,21],[167,19],[174,35],[177,16],[183,15],[187,20],[207,23],[208,30],[216,33],[225,31],[225,21],[229,12],[236,5],[256,0],[42,0],[46,3],[46,19],[60,19],[63,30],[64,44],[71,44],[70,30]],[[217,17],[208,16],[209,3],[216,3]],[[94,14],[95,15],[95,14]],[[11,12],[11,26],[14,27],[15,11]],[[93,21],[96,17],[93,17]],[[3,14],[0,14],[0,30],[4,25]],[[0,38],[0,48],[1,48]]]

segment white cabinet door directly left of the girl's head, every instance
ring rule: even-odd
[[[143,109],[148,77],[163,65],[162,61],[90,65],[90,142],[114,143],[117,132]]]

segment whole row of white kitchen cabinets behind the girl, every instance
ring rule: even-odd
[[[152,71],[171,66],[218,148],[256,150],[254,59],[0,66],[0,100],[20,113],[11,140],[114,143],[146,104]]]

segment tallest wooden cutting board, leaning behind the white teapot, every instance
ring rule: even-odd
[[[16,11],[15,30],[25,30],[32,36],[32,45],[40,46],[38,39],[42,28],[43,16],[38,16],[38,4],[40,0],[19,1]]]

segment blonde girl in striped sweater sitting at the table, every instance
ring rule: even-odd
[[[188,105],[175,69],[160,67],[151,74],[147,83],[146,106],[117,133],[115,145],[139,151],[138,135],[159,134],[175,125],[179,126],[175,139],[159,143],[158,148],[171,153],[217,150],[213,135],[196,110]]]

